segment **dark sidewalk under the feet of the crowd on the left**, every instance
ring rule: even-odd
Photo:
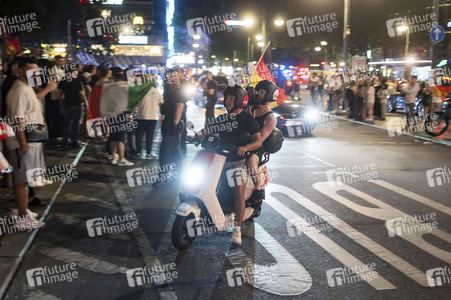
[[[45,149],[46,166],[76,164],[85,151],[87,144],[80,149],[70,150],[58,147],[58,142],[49,142]],[[2,178],[3,180],[3,178]],[[4,187],[4,182],[0,183],[0,222],[9,216],[11,208],[14,207],[12,188]],[[33,212],[39,214],[38,220],[45,222],[45,217],[49,214],[55,199],[61,190],[64,182],[57,182],[52,185],[35,189],[36,196],[41,200],[49,201],[48,206],[30,206]],[[9,227],[9,226],[8,226]],[[17,271],[23,257],[33,243],[38,230],[25,231],[20,233],[10,233],[5,226],[0,223],[0,299],[4,296],[15,272]]]

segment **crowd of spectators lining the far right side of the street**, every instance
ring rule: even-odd
[[[326,89],[324,87],[326,86]],[[342,74],[324,76],[312,73],[307,88],[313,106],[323,106],[323,91],[328,94],[326,111],[338,113],[345,110],[348,118],[357,121],[373,122],[385,120],[387,116],[387,99],[390,95],[405,96],[406,128],[415,125],[415,103],[421,100],[424,114],[442,110],[441,92],[427,81],[419,82],[417,76],[410,80],[394,81],[379,76],[355,76],[344,78]],[[298,90],[299,91],[299,90]],[[293,90],[292,98],[298,99],[299,93]],[[318,104],[318,97],[320,101]],[[413,123],[409,125],[409,123]]]

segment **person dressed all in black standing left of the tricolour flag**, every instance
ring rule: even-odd
[[[62,145],[67,146],[70,133],[71,144],[69,147],[76,149],[80,148],[78,134],[80,130],[81,104],[82,101],[86,102],[86,94],[83,89],[83,83],[77,79],[78,72],[76,67],[69,65],[68,71],[70,77],[59,84],[59,100],[64,116]]]

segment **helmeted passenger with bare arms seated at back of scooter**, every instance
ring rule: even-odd
[[[262,143],[271,134],[274,127],[276,127],[277,119],[272,112],[270,105],[271,102],[277,100],[279,90],[274,82],[270,80],[262,80],[255,87],[256,103],[249,106],[248,112],[252,115],[260,126],[260,134],[262,136]],[[247,167],[251,173],[252,182],[254,183],[255,190],[251,196],[251,207],[259,208],[262,205],[264,198],[264,190],[260,189],[260,174],[259,164],[262,161],[265,151],[263,147],[252,151],[251,156],[247,160]]]

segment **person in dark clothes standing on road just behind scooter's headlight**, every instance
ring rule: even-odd
[[[163,141],[160,146],[160,176],[169,173],[168,166],[175,163],[178,174],[181,171],[182,156],[180,154],[180,131],[184,126],[182,122],[183,110],[186,104],[186,96],[183,93],[181,81],[184,79],[183,70],[176,68],[166,74],[164,104],[161,106],[163,123],[161,124],[161,133]],[[154,187],[159,187],[163,181],[158,181]]]

